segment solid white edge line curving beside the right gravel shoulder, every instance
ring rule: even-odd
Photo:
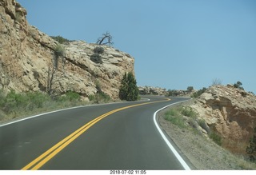
[[[175,104],[178,104],[178,103],[181,103],[183,101],[179,101],[179,102],[176,102],[176,103],[173,103],[173,104],[170,104],[170,105],[175,105]],[[162,109],[165,109],[167,107],[169,107],[170,105],[166,105],[165,107],[161,108],[161,109],[158,109],[155,113],[154,113],[154,125],[156,125],[159,133],[161,134],[162,138],[164,141],[166,141],[166,144],[169,146],[170,150],[174,153],[175,157],[178,159],[178,161],[182,164],[183,168],[185,170],[191,170],[189,165],[186,164],[186,162],[182,159],[182,157],[178,154],[178,152],[176,151],[176,149],[174,149],[174,146],[170,144],[170,141],[168,141],[168,139],[166,138],[165,134],[162,133],[162,129],[160,129],[159,125],[158,125],[158,122],[156,121],[156,116],[157,116],[157,113],[162,110]]]

